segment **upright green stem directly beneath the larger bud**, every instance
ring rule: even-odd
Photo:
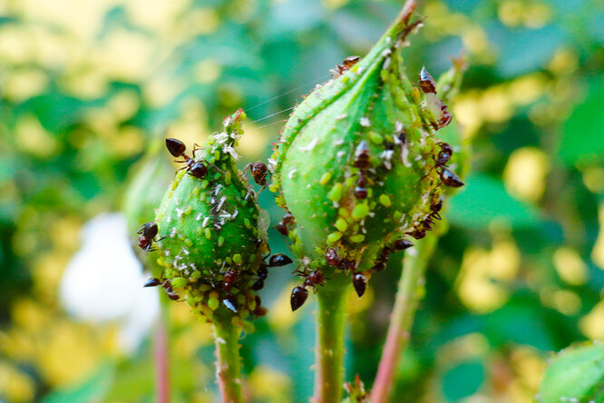
[[[339,403],[342,398],[344,325],[349,285],[349,279],[335,278],[317,292],[315,403]]]

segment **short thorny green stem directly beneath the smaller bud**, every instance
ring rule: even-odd
[[[241,329],[230,322],[214,323],[216,338],[216,379],[222,403],[242,403],[239,334]]]

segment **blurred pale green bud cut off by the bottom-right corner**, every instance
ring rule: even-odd
[[[545,370],[536,401],[604,401],[604,344],[562,350]]]

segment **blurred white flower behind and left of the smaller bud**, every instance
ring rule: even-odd
[[[158,317],[157,290],[142,287],[149,275],[132,251],[122,214],[94,217],[84,225],[82,237],[82,249],[61,280],[63,308],[86,322],[119,323],[120,345],[132,352]]]

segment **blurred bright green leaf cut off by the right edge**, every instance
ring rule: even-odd
[[[590,86],[586,100],[563,124],[559,155],[568,165],[604,162],[604,84]]]

